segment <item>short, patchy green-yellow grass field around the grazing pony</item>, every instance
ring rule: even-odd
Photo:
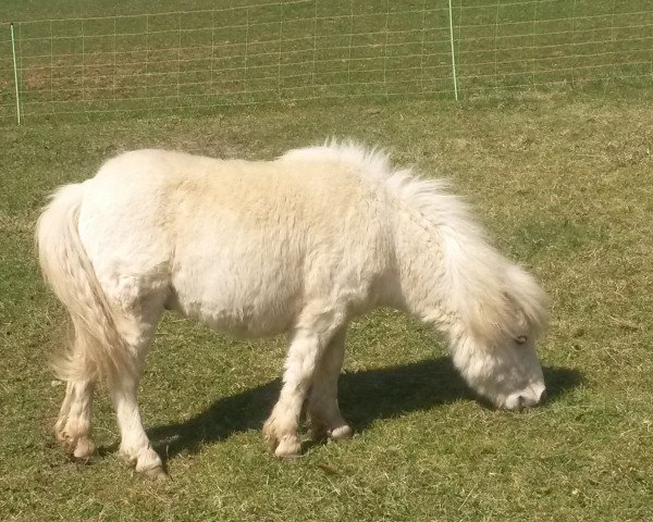
[[[144,9],[116,5],[3,2],[0,20]],[[461,103],[358,97],[1,125],[0,520],[652,520],[650,90]],[[65,318],[33,247],[49,191],[128,149],[273,158],[328,136],[386,147],[399,165],[451,178],[498,247],[540,278],[552,297],[540,343],[547,403],[522,413],[483,408],[442,338],[382,310],[349,332],[341,407],[354,438],[307,444],[301,458],[282,462],[267,453],[260,427],[279,389],[284,339],[234,340],[169,315],[139,398],[171,481],[148,482],[115,456],[104,389],[94,419],[98,456],[72,462],[52,435],[64,389],[47,366]]]

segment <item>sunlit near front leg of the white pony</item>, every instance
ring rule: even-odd
[[[306,394],[323,347],[329,338],[316,332],[295,333],[288,349],[283,387],[272,414],[263,425],[263,434],[276,457],[294,457],[301,452],[297,430]]]

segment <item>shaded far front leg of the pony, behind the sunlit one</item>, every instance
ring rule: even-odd
[[[343,419],[337,403],[337,380],[345,356],[346,328],[331,340],[318,363],[308,397],[307,420],[312,438],[343,440],[352,436],[352,428]]]

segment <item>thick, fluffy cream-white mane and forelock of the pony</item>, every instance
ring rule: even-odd
[[[538,283],[492,246],[469,206],[448,192],[444,179],[393,169],[387,153],[352,141],[328,141],[286,152],[283,159],[336,161],[378,185],[439,239],[452,312],[491,343],[537,335],[546,323],[547,298]]]

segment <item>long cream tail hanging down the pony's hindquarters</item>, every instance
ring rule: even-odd
[[[46,283],[66,307],[74,327],[71,346],[53,359],[60,378],[89,380],[133,368],[131,350],[79,239],[84,184],[57,190],[36,225],[38,259]]]

